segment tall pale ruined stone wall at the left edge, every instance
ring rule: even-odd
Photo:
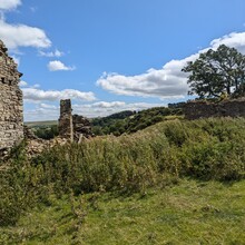
[[[21,74],[0,40],[0,150],[11,148],[23,138]]]

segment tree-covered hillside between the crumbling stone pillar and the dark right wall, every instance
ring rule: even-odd
[[[95,118],[91,120],[95,135],[119,136],[124,133],[130,134],[141,130],[170,117],[180,117],[182,108],[155,107],[141,111],[121,111],[108,117]]]

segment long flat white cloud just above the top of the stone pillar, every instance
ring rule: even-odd
[[[65,89],[65,90],[41,90],[38,88],[22,88],[23,99],[31,101],[55,101],[60,99],[78,99],[92,101],[96,99],[94,92],[84,92],[75,89]]]

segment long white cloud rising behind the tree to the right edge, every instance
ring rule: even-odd
[[[97,85],[117,95],[157,97],[160,99],[184,98],[187,95],[188,86],[187,74],[182,72],[182,68],[186,66],[187,61],[198,58],[200,52],[205,52],[209,48],[217,49],[223,43],[245,53],[245,32],[234,32],[215,39],[208,48],[185,59],[171,60],[161,69],[149,69],[145,74],[136,76],[105,72],[97,80]]]

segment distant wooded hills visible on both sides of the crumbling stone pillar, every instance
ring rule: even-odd
[[[90,119],[92,133],[96,136],[110,134],[119,136],[136,133],[163,120],[182,118],[182,107],[176,105],[173,107],[155,107],[140,111],[125,110],[107,117],[92,118]],[[24,125],[43,139],[50,139],[58,135],[57,120],[29,121],[24,122]]]

